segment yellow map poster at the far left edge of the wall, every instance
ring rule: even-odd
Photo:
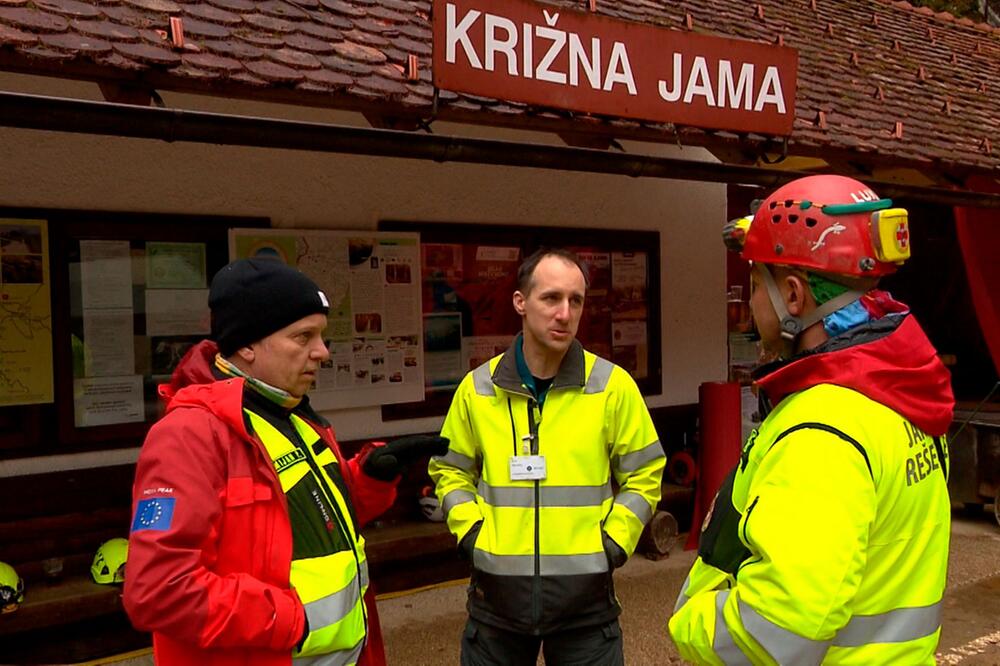
[[[45,220],[0,219],[0,405],[52,402]]]

